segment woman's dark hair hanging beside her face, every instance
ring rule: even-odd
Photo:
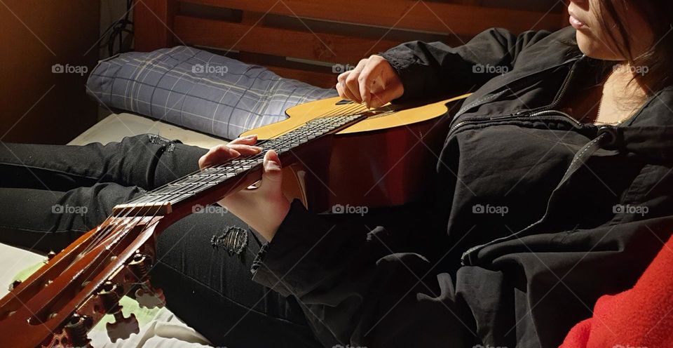
[[[635,74],[634,80],[647,86],[648,95],[673,84],[673,1],[671,0],[601,0],[601,18],[605,32],[634,67],[647,67],[646,74]],[[634,56],[632,47],[637,37],[632,37],[626,21],[621,18],[632,11],[648,22],[654,42],[644,53]],[[608,18],[613,20],[609,21]],[[617,30],[613,30],[612,27]]]

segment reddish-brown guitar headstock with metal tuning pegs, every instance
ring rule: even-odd
[[[137,297],[145,307],[163,306],[149,283],[162,215],[118,215],[53,256],[0,300],[0,342],[6,347],[86,347],[88,330],[105,314],[114,342],[138,332],[119,300]]]

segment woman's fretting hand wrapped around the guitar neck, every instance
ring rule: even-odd
[[[242,154],[259,154],[261,148],[253,146],[256,142],[257,136],[250,135],[233,140],[227,145],[212,147],[198,160],[198,166],[205,168]],[[269,150],[264,154],[264,171],[256,188],[240,189],[217,202],[259,232],[267,241],[273,239],[280,223],[290,210],[290,201],[285,198],[281,185],[283,183],[281,169],[278,154]]]

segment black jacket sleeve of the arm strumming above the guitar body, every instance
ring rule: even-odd
[[[493,77],[510,71],[519,53],[550,32],[524,32],[518,36],[492,28],[463,46],[442,42],[411,41],[380,53],[393,66],[405,87],[395,102],[466,93]]]

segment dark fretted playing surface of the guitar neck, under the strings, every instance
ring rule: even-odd
[[[262,149],[261,154],[239,157],[233,161],[222,163],[219,166],[205,168],[198,173],[187,175],[154,191],[147,192],[128,203],[116,206],[114,212],[128,214],[131,210],[135,210],[135,213],[142,213],[138,211],[139,208],[175,205],[206,189],[236,178],[247,170],[261,166],[264,161],[264,153],[269,149],[273,149],[279,155],[285,152],[292,152],[293,149],[300,145],[304,145],[306,142],[315,140],[322,135],[333,133],[349,123],[359,121],[362,117],[364,115],[354,114],[313,119],[290,132],[280,135],[278,138],[261,142],[258,145]]]

